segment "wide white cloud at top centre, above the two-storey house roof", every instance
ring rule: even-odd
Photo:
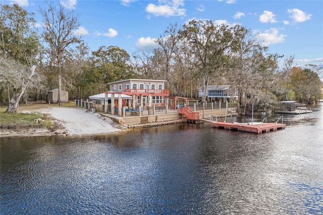
[[[164,5],[161,5],[164,3]],[[146,7],[146,12],[154,16],[185,16],[186,9],[179,8],[184,6],[183,0],[173,0],[173,1],[159,1],[159,5],[149,4]]]

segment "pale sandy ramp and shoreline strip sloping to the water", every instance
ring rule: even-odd
[[[79,108],[48,108],[37,112],[47,114],[53,122],[59,123],[61,129],[49,131],[47,129],[29,129],[23,131],[1,131],[0,137],[10,136],[48,136],[48,135],[93,135],[117,133],[122,130],[111,119],[101,117],[97,113],[90,113]],[[24,112],[26,113],[26,112]]]

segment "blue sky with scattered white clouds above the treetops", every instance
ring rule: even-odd
[[[18,4],[37,12],[44,1],[0,0]],[[90,48],[118,46],[131,56],[133,52],[151,50],[154,40],[177,23],[182,26],[195,20],[214,24],[239,24],[258,34],[268,52],[294,56],[297,66],[323,66],[323,1],[239,1],[239,0],[65,0],[60,4],[78,14],[80,27],[75,34]]]

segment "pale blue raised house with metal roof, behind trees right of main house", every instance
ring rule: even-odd
[[[204,90],[198,88],[198,97],[202,97]],[[206,91],[206,97],[211,100],[223,100],[226,99],[237,99],[238,92],[231,88],[230,85],[208,85]]]

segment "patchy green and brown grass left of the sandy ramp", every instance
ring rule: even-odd
[[[27,130],[27,129],[52,129],[50,119],[43,119],[43,114],[37,112],[39,109],[52,108],[59,104],[48,104],[45,102],[32,102],[29,104],[19,104],[18,112],[15,114],[5,114],[8,106],[0,106],[0,129],[4,130]],[[74,102],[62,103],[61,106],[75,106]],[[30,113],[21,113],[21,112]]]

